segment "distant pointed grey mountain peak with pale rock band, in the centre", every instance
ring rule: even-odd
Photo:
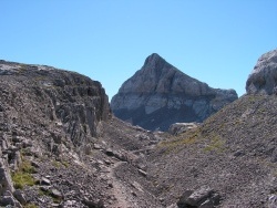
[[[122,84],[111,108],[133,125],[167,131],[173,123],[203,122],[236,98],[234,90],[212,89],[154,53]]]

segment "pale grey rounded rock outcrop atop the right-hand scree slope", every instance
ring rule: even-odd
[[[277,93],[277,50],[263,54],[250,73],[246,91],[248,94]]]

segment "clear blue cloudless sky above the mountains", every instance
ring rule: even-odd
[[[277,0],[1,0],[0,11],[0,59],[85,74],[110,98],[153,52],[242,95],[277,48]]]

